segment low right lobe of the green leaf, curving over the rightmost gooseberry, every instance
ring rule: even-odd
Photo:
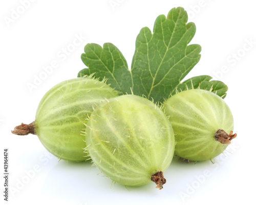
[[[223,82],[218,80],[212,80],[212,77],[210,76],[196,76],[193,78],[189,78],[185,80],[184,82],[180,83],[174,90],[170,92],[170,96],[175,95],[178,92],[187,90],[187,89],[205,89],[210,90],[212,93],[217,94],[221,98],[226,97],[227,92],[227,85],[225,85]]]

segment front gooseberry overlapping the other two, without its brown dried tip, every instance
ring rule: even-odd
[[[86,128],[87,150],[103,174],[126,186],[150,183],[174,155],[173,129],[150,100],[123,95],[101,103]]]

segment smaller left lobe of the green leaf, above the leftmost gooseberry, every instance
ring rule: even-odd
[[[112,43],[104,43],[103,48],[98,44],[88,43],[81,59],[88,66],[90,75],[95,73],[100,80],[107,78],[111,87],[122,94],[131,92],[131,72],[122,53]]]

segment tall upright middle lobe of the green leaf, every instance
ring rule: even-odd
[[[200,45],[187,45],[196,26],[186,22],[187,13],[179,7],[170,10],[167,18],[157,17],[153,34],[146,27],[141,29],[132,62],[135,95],[163,101],[198,63]]]

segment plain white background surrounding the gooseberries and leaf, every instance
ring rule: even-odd
[[[256,204],[254,1],[114,0],[117,5],[111,7],[109,0],[31,0],[27,8],[21,2],[0,3],[1,204],[4,148],[9,150],[12,187],[5,204]],[[119,184],[111,187],[112,180],[97,175],[99,170],[90,163],[58,162],[36,135],[11,133],[16,125],[34,121],[40,99],[52,86],[76,78],[85,67],[80,59],[84,45],[112,42],[131,65],[140,29],[152,30],[158,15],[178,6],[196,24],[191,43],[202,46],[201,60],[186,78],[215,76],[229,87],[225,101],[238,136],[215,164],[175,159],[164,173],[163,190],[153,183],[127,190]],[[16,19],[15,11],[20,13]],[[75,40],[79,35],[82,39]],[[65,49],[69,53],[63,54]],[[36,76],[42,77],[43,66],[52,62],[57,62],[53,72],[29,90],[28,83],[34,84]]]

